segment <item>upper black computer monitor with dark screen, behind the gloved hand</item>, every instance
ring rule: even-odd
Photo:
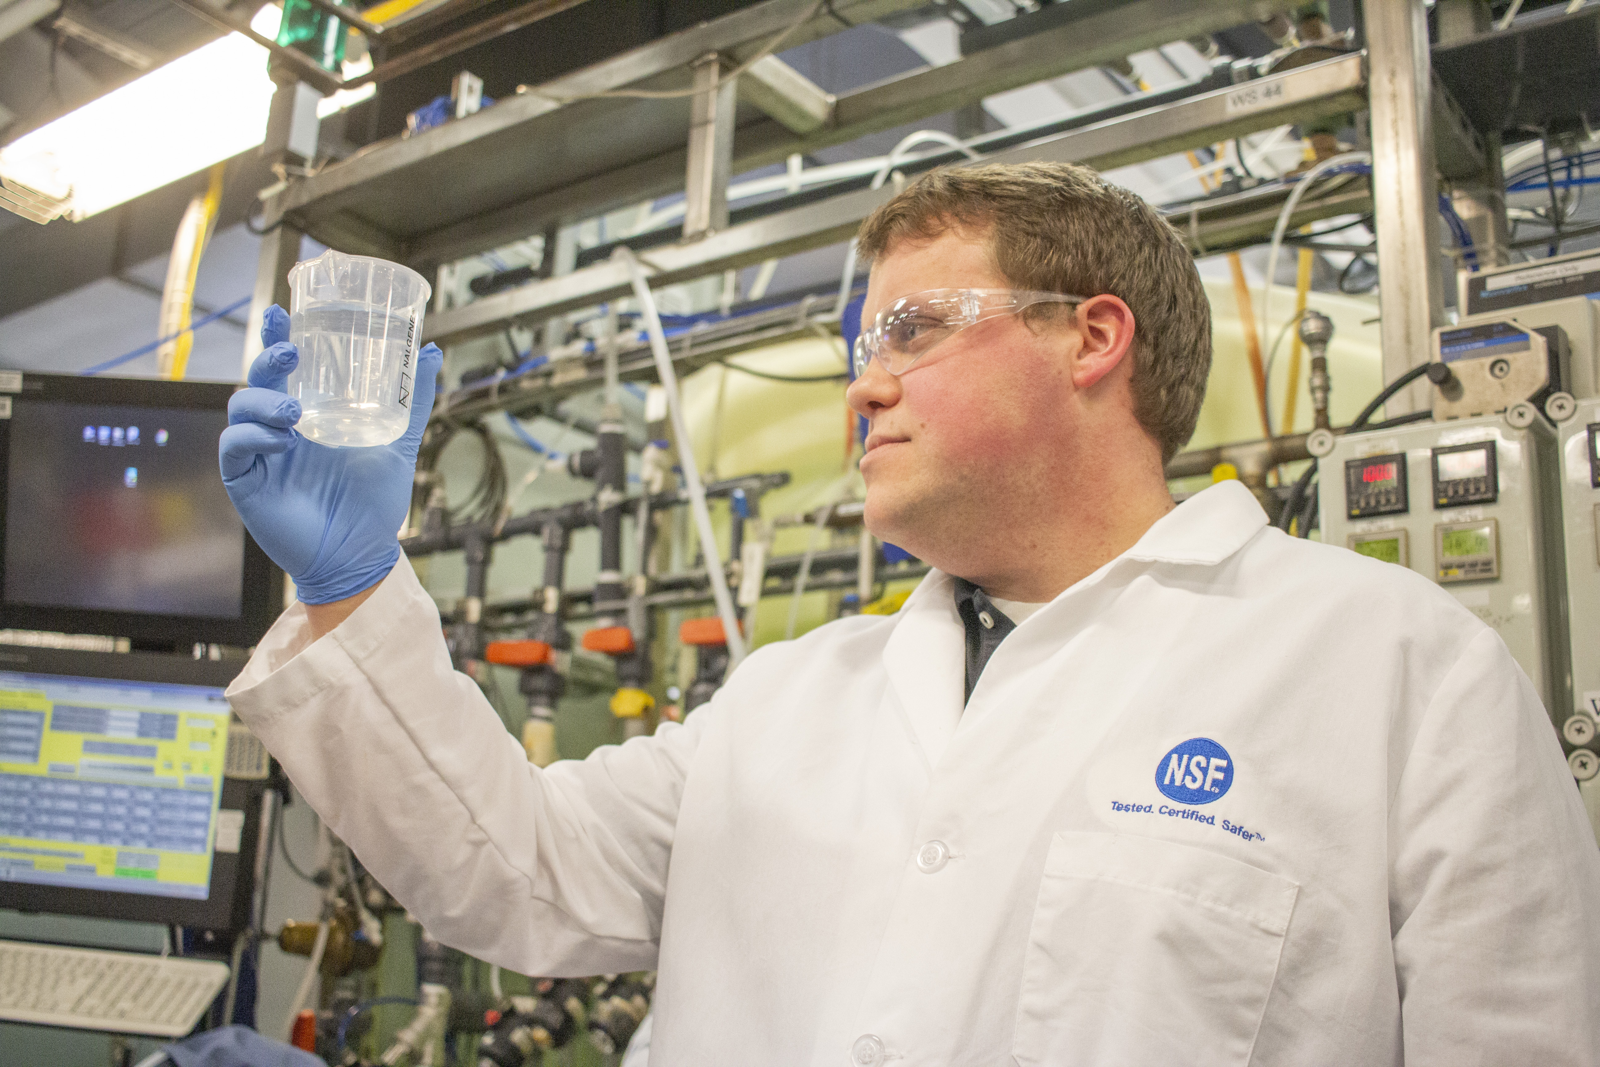
[[[261,640],[283,579],[218,474],[232,392],[24,373],[0,395],[0,629]]]

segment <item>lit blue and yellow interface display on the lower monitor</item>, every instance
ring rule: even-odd
[[[227,721],[218,688],[0,670],[0,880],[203,901]]]

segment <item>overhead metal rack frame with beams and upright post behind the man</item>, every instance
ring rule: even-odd
[[[1259,19],[1293,6],[1293,0],[1048,5],[1013,19],[1008,38],[992,48],[838,98],[822,94],[821,104],[816,94],[808,94],[805,78],[768,56],[752,67],[752,72],[765,67],[760,77],[741,75],[739,90],[758,82],[760,90],[750,98],[778,117],[728,106],[731,83],[722,77],[728,64],[755,54],[773,34],[802,16],[810,13],[786,43],[816,40],[845,22],[910,6],[915,0],[834,0],[822,11],[810,0],[765,0],[563,75],[493,109],[416,138],[373,146],[314,176],[290,181],[266,202],[266,221],[277,229],[262,242],[253,314],[286,299],[285,274],[301,234],[341,250],[427,267],[674,187],[686,187],[685,230],[699,235],[640,254],[654,285],[837,243],[851,237],[893,195],[893,187],[808,195],[798,206],[728,226],[726,174],[1141,48]],[[1307,198],[1291,222],[1374,210],[1379,256],[1400,264],[1398,270],[1386,272],[1392,282],[1384,290],[1381,325],[1384,370],[1394,376],[1426,358],[1429,331],[1443,317],[1434,210],[1440,166],[1451,182],[1467,184],[1493,163],[1483,139],[1429,70],[1422,0],[1365,0],[1363,11],[1370,43],[1362,54],[1178,101],[1163,94],[1162,102],[1142,110],[1040,136],[986,158],[1062,160],[1109,170],[1270,126],[1370,110],[1371,192],[1347,187]],[[595,96],[622,86],[688,86],[696,70],[699,96],[693,90],[669,101]],[[720,107],[712,96],[722,98]],[[826,110],[821,120],[819,107]],[[806,125],[811,128],[797,131]],[[450,195],[440,195],[446,187]],[[1189,235],[1195,251],[1237,248],[1269,232],[1282,197],[1282,189],[1219,197],[1173,222]],[[1494,258],[1494,250],[1483,251]],[[621,262],[597,262],[430,315],[424,338],[462,342],[614,299],[629,288]],[[792,336],[782,330],[779,334]],[[773,339],[760,328],[752,328],[750,336]],[[736,347],[738,341],[728,344]],[[586,381],[587,376],[586,371]],[[558,389],[552,378],[554,371],[542,386]],[[523,395],[517,403],[528,400],[536,387],[538,382],[518,384]],[[536,405],[525,410],[531,406]]]

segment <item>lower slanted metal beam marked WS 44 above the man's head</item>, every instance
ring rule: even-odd
[[[1267,126],[1350,110],[1362,101],[1362,86],[1360,56],[1330,59],[1245,86],[1205,93],[1045,138],[986,158],[1000,163],[1059,160],[1109,170]],[[733,226],[699,242],[653,248],[640,259],[656,285],[688,282],[717,270],[846,240],[891,195],[893,187],[859,189]],[[507,322],[544,320],[624,296],[629,290],[626,266],[603,262],[432,315],[424,323],[424,339],[466,341],[494,333]]]

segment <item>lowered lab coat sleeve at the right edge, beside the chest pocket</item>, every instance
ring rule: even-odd
[[[1406,1065],[1600,1064],[1600,853],[1544,705],[1493,630],[1394,744]]]

